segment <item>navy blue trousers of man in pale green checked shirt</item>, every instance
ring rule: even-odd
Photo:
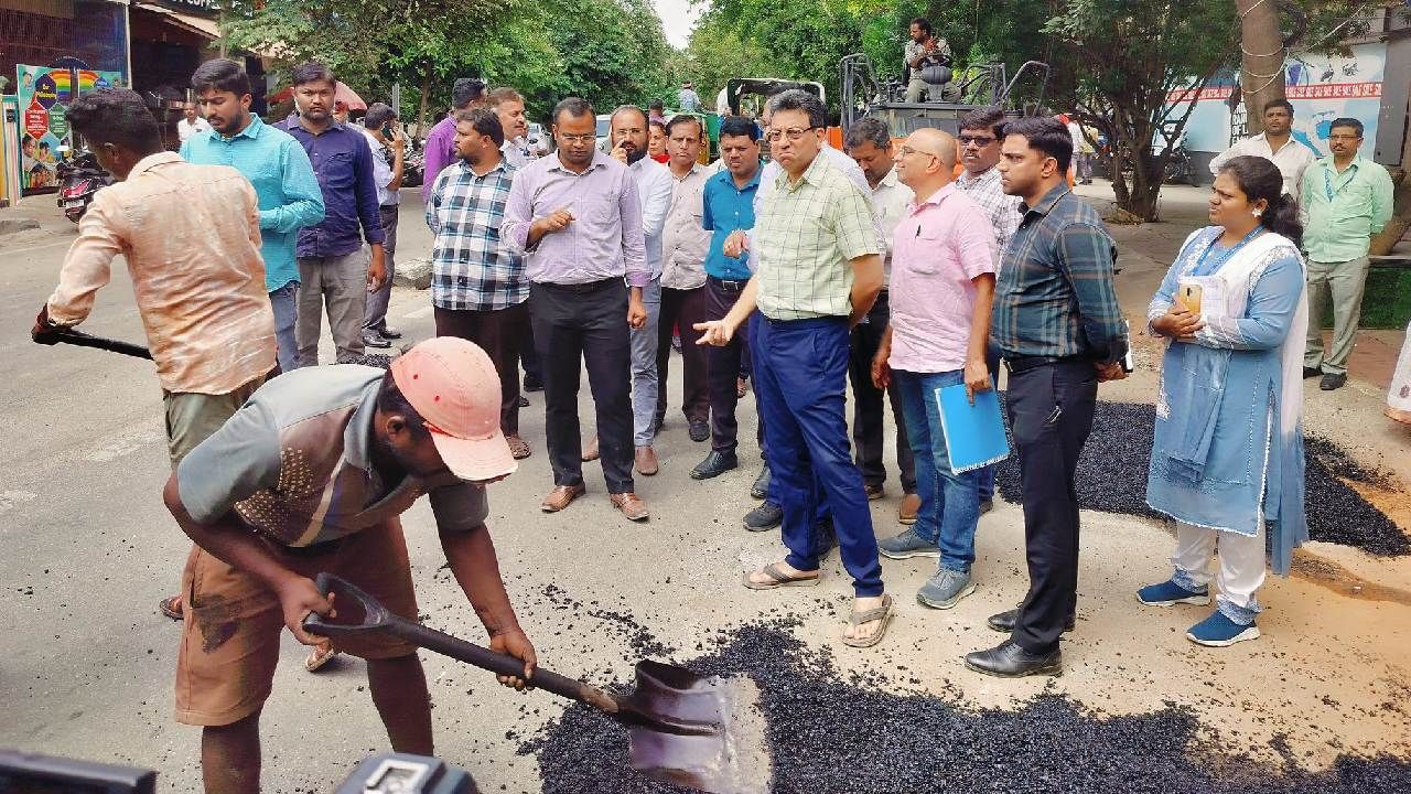
[[[773,473],[770,492],[785,513],[785,561],[800,571],[818,568],[824,547],[816,526],[820,504],[827,503],[854,592],[858,598],[879,596],[878,541],[844,417],[848,321],[761,319],[752,331],[755,398]]]

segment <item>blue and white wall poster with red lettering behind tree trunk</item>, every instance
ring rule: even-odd
[[[1332,120],[1357,119],[1364,127],[1363,154],[1370,157],[1377,140],[1386,57],[1387,45],[1383,42],[1357,44],[1346,57],[1291,54],[1285,62],[1284,95],[1294,106],[1294,138],[1319,157],[1326,157]],[[1235,72],[1218,75],[1205,86],[1185,127],[1188,151],[1221,153],[1230,146],[1229,100],[1237,90],[1239,79]],[[1182,99],[1181,95],[1181,90],[1175,90],[1168,99],[1177,102]],[[1240,119],[1243,110],[1240,106]],[[1235,130],[1235,134],[1239,131]]]

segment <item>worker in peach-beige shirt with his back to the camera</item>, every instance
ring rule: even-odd
[[[87,93],[68,120],[117,184],[83,213],[32,336],[52,345],[58,329],[83,322],[121,254],[162,384],[175,468],[274,369],[255,191],[234,168],[189,165],[165,151],[133,90]],[[162,600],[169,617],[181,610],[179,595]]]

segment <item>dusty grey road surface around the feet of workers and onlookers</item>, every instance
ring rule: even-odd
[[[415,201],[404,209],[402,235],[404,257],[425,256],[429,236]],[[0,405],[7,414],[0,427],[7,462],[0,482],[0,747],[157,769],[162,791],[193,791],[200,780],[199,730],[176,725],[171,715],[179,627],[155,612],[158,599],[178,586],[189,543],[159,499],[168,463],[152,366],[97,350],[38,346],[27,333],[72,236],[56,227],[18,242],[0,239]],[[1140,259],[1129,267],[1146,273]],[[1132,294],[1143,290],[1149,294],[1149,287]],[[1126,294],[1123,301],[1129,314],[1140,311]],[[394,295],[392,322],[408,340],[432,333],[429,305],[426,292]],[[143,340],[121,264],[85,328]],[[625,681],[643,630],[666,648],[679,648],[670,656],[690,660],[742,624],[792,615],[801,622],[792,632],[811,650],[831,654],[844,677],[878,675],[869,687],[890,687],[886,677],[897,675],[902,689],[920,687],[967,708],[1006,709],[1051,692],[1108,715],[1157,712],[1174,701],[1201,719],[1201,735],[1218,733],[1223,749],[1278,762],[1271,742],[1284,735],[1292,757],[1309,769],[1326,767],[1343,752],[1411,756],[1411,716],[1397,705],[1411,692],[1407,602],[1350,598],[1307,578],[1271,579],[1261,593],[1270,606],[1260,623],[1263,639],[1226,651],[1194,648],[1181,633],[1199,610],[1141,610],[1132,598],[1134,588],[1165,575],[1170,554],[1168,530],[1146,519],[1085,513],[1079,622],[1065,640],[1062,678],[996,681],[959,664],[962,653],[999,639],[983,627],[985,616],[1013,606],[1026,588],[1022,514],[1010,504],[981,524],[975,595],[948,613],[927,610],[913,593],[933,562],[888,562],[885,576],[899,609],[889,637],[871,651],[842,647],[849,586],[835,557],[816,589],[753,593],[738,585],[741,571],[779,551],[776,534],[739,527],[755,504],[748,497],[758,470],[749,441],[752,401],[741,408],[744,468],[698,483],[687,472],[707,445],[686,437],[674,408],[679,389],[677,357],[673,408],[658,441],[662,473],[638,479],[653,510],[645,526],[611,510],[594,463],[586,466],[584,500],[560,516],[538,510],[552,480],[542,394],[531,394],[522,425],[535,455],[491,487],[488,524],[511,598],[546,667],[600,684]],[[1153,390],[1149,374],[1105,398],[1149,401]],[[587,435],[586,389],[581,415]],[[872,506],[879,535],[900,530],[890,470],[888,499]],[[473,610],[442,569],[425,503],[406,514],[405,526],[425,620],[483,640]],[[1407,585],[1404,561],[1342,562]],[[340,660],[309,675],[302,657],[303,648],[285,637],[262,719],[267,791],[329,791],[357,760],[385,749],[363,664]],[[487,674],[423,658],[437,752],[474,770],[485,790],[539,791],[539,763],[518,750],[559,718],[564,704],[543,692],[508,692]]]

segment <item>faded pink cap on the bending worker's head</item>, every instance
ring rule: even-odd
[[[473,342],[428,339],[392,360],[392,380],[426,420],[453,475],[492,480],[519,468],[499,432],[499,376]]]

